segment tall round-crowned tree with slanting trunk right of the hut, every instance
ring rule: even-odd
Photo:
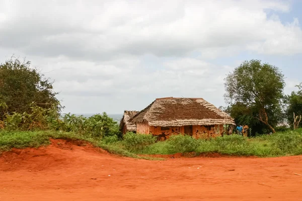
[[[226,103],[244,106],[252,118],[275,133],[285,86],[284,75],[278,67],[260,60],[244,61],[225,78],[224,85]]]

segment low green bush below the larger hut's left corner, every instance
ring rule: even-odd
[[[123,137],[123,144],[126,149],[130,151],[139,151],[148,145],[152,145],[156,142],[156,137],[150,134],[135,134],[126,133]]]

